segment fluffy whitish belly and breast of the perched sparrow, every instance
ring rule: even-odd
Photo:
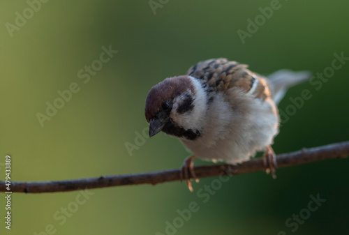
[[[271,145],[277,135],[279,117],[272,100],[251,98],[239,90],[229,92],[233,100],[224,100],[220,94],[210,103],[200,138],[181,139],[194,156],[237,164]]]

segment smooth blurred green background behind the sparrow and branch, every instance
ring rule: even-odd
[[[14,25],[15,13],[23,15],[29,5],[1,1],[0,180],[6,154],[12,156],[13,181],[178,168],[188,152],[177,139],[156,135],[138,143],[132,156],[125,146],[136,144],[135,132],[147,128],[144,101],[154,84],[210,58],[248,63],[267,75],[281,68],[322,73],[334,53],[349,56],[348,1],[280,1],[281,8],[245,44],[237,30],[246,31],[246,20],[254,21],[270,1],[162,2],[154,15],[148,0],[48,1],[11,37],[6,22]],[[84,84],[77,71],[109,45],[119,52]],[[313,97],[282,126],[276,153],[349,140],[348,73],[344,64],[318,91],[309,82],[290,89],[279,105],[283,110],[304,89]],[[41,127],[36,114],[45,114],[45,103],[72,82],[80,91]],[[94,195],[64,225],[53,215],[71,207],[79,192],[17,193],[10,232],[0,199],[0,233],[36,234],[53,225],[51,234],[166,234],[166,221],[197,202],[200,211],[175,234],[292,234],[285,221],[319,193],[327,201],[295,234],[348,234],[348,163],[278,169],[276,180],[264,172],[234,176],[207,203],[197,192],[214,179],[194,183],[194,193],[179,182],[90,190]],[[202,164],[207,162],[195,160]]]

